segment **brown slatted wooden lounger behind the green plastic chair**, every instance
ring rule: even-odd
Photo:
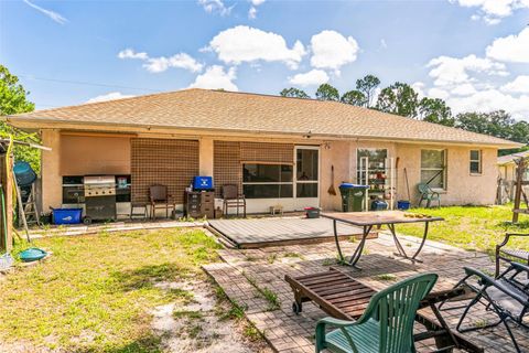
[[[331,267],[328,271],[301,277],[287,275],[284,280],[294,292],[292,310],[296,314],[303,310],[303,302],[313,301],[323,311],[336,319],[357,320],[364,313],[371,297],[377,292],[334,267]],[[435,306],[439,302],[464,295],[464,289],[451,289],[428,295],[421,301],[419,309],[430,308],[436,321],[418,312],[415,321],[421,323],[427,331],[414,334],[415,342],[433,338],[440,352],[450,352],[451,347],[475,353],[484,352],[482,347],[452,331]]]

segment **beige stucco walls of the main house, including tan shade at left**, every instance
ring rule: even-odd
[[[173,136],[160,136],[156,133],[142,133],[142,137],[153,138],[176,138]],[[86,137],[79,139],[76,137],[76,143],[72,143],[73,137],[61,136],[56,129],[43,129],[43,143],[51,147],[53,151],[42,153],[42,173],[43,173],[43,210],[48,206],[60,207],[62,200],[62,175],[65,174],[90,174],[90,173],[129,173],[130,172],[130,143],[128,139],[119,137]],[[101,145],[101,139],[105,143]],[[199,172],[204,175],[213,175],[213,148],[214,139],[223,140],[252,140],[263,142],[291,142],[295,145],[312,145],[321,147],[321,170],[320,170],[320,204],[324,210],[339,210],[341,197],[338,185],[342,182],[356,182],[356,151],[358,148],[386,148],[388,157],[398,160],[396,174],[397,196],[408,199],[403,170],[408,171],[410,192],[412,202],[417,203],[417,184],[420,182],[420,150],[422,148],[443,148],[439,145],[427,146],[419,143],[399,143],[385,141],[365,141],[365,140],[306,140],[306,139],[273,139],[270,137],[246,137],[229,138],[226,136],[212,137],[205,135],[198,137],[199,147]],[[67,141],[64,146],[62,142]],[[123,142],[127,141],[127,142]],[[309,143],[310,142],[310,143]],[[79,156],[89,152],[90,146],[96,143],[97,153],[93,153],[90,163],[78,162]],[[78,145],[78,146],[77,146]],[[72,148],[72,146],[74,146]],[[104,148],[100,148],[104,146]],[[444,147],[447,149],[447,188],[442,194],[443,204],[493,204],[496,194],[496,180],[498,169],[496,164],[497,150],[494,148],[482,148],[483,151],[483,173],[482,175],[471,175],[468,170],[471,147]],[[111,152],[110,152],[111,151]],[[91,153],[91,152],[90,152]],[[75,165],[65,165],[72,163],[73,158],[77,158]],[[114,161],[109,163],[109,161]],[[108,164],[119,165],[117,170],[107,169]],[[331,178],[331,167],[334,165],[334,181]],[[334,184],[337,195],[328,194],[327,190]]]

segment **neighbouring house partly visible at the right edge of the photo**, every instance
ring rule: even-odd
[[[505,204],[515,197],[516,163],[519,158],[529,158],[529,151],[498,157],[498,193],[497,203]],[[525,179],[529,180],[529,170]]]

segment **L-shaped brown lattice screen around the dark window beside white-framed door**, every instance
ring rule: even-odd
[[[215,141],[213,170],[215,195],[222,196],[222,185],[237,184],[242,191],[242,162],[293,163],[291,143]]]

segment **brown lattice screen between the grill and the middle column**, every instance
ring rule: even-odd
[[[149,186],[162,184],[176,203],[198,175],[198,141],[131,139],[132,202],[148,202]]]

